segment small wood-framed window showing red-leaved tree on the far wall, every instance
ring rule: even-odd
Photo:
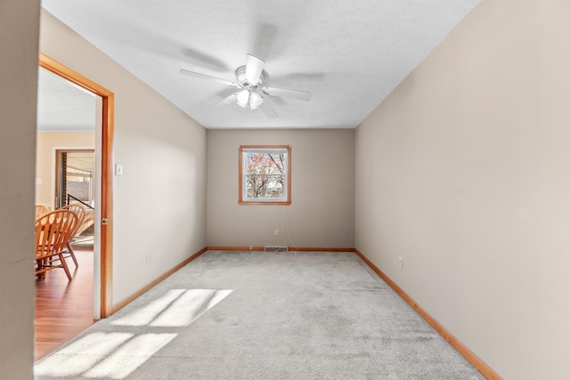
[[[291,147],[240,146],[240,205],[291,204]]]

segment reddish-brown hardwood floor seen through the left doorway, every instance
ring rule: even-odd
[[[45,279],[36,280],[35,360],[93,325],[93,250],[75,249],[79,266],[68,259],[73,279],[65,271],[48,271]]]

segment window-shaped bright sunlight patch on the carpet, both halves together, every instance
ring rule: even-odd
[[[123,379],[178,335],[149,333],[149,329],[186,327],[231,293],[232,290],[215,289],[169,290],[110,323],[129,327],[130,332],[83,336],[37,362],[35,375]]]

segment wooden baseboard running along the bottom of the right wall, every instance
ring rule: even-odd
[[[362,254],[358,249],[354,249],[354,253],[362,259],[364,263],[371,267],[372,271],[375,271],[376,274],[379,275],[381,279],[384,279],[387,284],[392,287],[395,292],[402,297],[402,299],[410,304],[411,308],[415,310],[419,316],[425,319],[431,327],[437,331],[440,336],[443,336],[447,343],[451,344],[452,347],[460,353],[466,360],[468,360],[473,367],[475,367],[485,378],[489,380],[501,380],[502,377],[497,374],[493,368],[489,367],[485,361],[481,360],[478,356],[476,356],[475,352],[472,352],[468,349],[465,344],[462,344],[458,338],[452,335],[441,323],[439,323],[436,319],[434,319],[431,315],[428,314],[428,311],[425,311],[418,303],[416,303],[410,295],[403,291],[401,287],[398,287],[396,283],[387,277],[387,275],[380,271],[379,268],[372,263],[368,257]]]

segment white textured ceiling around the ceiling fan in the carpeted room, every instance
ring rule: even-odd
[[[354,128],[480,0],[43,0],[55,17],[208,128]],[[230,104],[246,54],[265,83],[311,101],[271,97],[279,117]],[[436,89],[434,89],[436,91]]]

